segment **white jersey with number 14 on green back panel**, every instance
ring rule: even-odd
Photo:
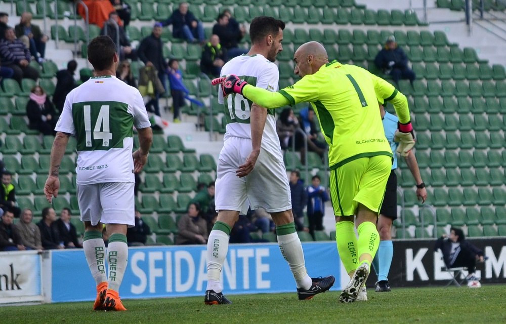
[[[77,184],[135,182],[133,126],[151,126],[144,101],[115,76],[92,77],[68,94],[55,130],[77,139]]]

